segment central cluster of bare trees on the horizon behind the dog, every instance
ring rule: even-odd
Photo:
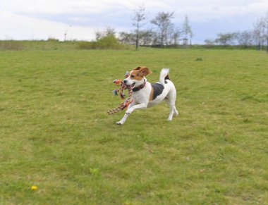
[[[140,6],[133,15],[135,29],[133,32],[119,32],[118,40],[122,44],[133,44],[136,49],[140,45],[163,47],[191,44],[193,32],[188,16],[185,16],[183,26],[178,27],[172,23],[173,15],[173,12],[159,12],[152,20],[148,21],[145,7]],[[152,27],[142,29],[147,23],[150,23]],[[107,34],[115,36],[115,31],[108,28],[104,32],[96,32],[96,40]]]

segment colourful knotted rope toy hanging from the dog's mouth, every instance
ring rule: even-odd
[[[125,77],[128,77],[128,75],[129,75],[129,72],[127,71],[125,74]],[[131,96],[133,94],[133,86],[132,85],[124,84],[123,80],[114,80],[114,84],[120,87],[118,89],[113,90],[114,95],[119,94],[121,99],[123,100],[123,99],[125,99],[125,94],[123,94],[123,90],[128,89],[128,97],[117,108],[109,110],[107,112],[109,115],[117,113],[118,111],[122,111],[123,109],[127,108],[128,105],[133,101],[133,99],[131,99]]]

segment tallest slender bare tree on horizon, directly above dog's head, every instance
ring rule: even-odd
[[[136,39],[135,39],[135,45],[136,50],[139,46],[139,39],[140,39],[140,27],[145,25],[145,23],[142,23],[145,20],[145,7],[139,6],[137,10],[134,10],[134,16],[133,16],[133,26],[135,27],[135,33],[136,33]]]

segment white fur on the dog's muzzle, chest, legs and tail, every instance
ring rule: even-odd
[[[173,116],[178,116],[178,111],[175,106],[176,88],[173,85],[173,82],[171,82],[171,80],[166,80],[167,83],[164,83],[165,81],[164,78],[168,74],[169,74],[169,68],[163,68],[160,73],[159,82],[157,83],[161,83],[164,86],[164,89],[162,94],[159,94],[152,101],[150,101],[150,93],[152,90],[152,85],[150,82],[146,82],[145,87],[143,87],[139,91],[133,92],[132,94],[133,102],[128,106],[125,115],[120,121],[117,122],[117,125],[123,125],[123,123],[126,122],[128,116],[130,116],[130,114],[133,111],[135,111],[135,109],[151,107],[156,104],[159,104],[162,101],[166,101],[166,103],[169,104],[170,111],[169,111],[169,118],[167,120],[172,120]],[[134,87],[138,87],[139,85],[142,85],[144,80],[146,80],[145,77],[143,77],[142,80],[133,80],[130,78],[130,75],[125,79],[127,81],[127,85],[132,85],[133,82],[135,82]]]

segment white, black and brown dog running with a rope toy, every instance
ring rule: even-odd
[[[178,116],[178,111],[175,106],[176,102],[176,88],[169,78],[169,68],[162,68],[159,82],[151,84],[147,82],[147,75],[152,71],[145,66],[138,66],[133,68],[123,80],[125,85],[133,87],[132,99],[133,101],[128,105],[123,118],[116,122],[117,125],[123,125],[130,114],[136,109],[142,109],[159,104],[166,101],[169,104],[169,118],[172,120],[173,116]]]

